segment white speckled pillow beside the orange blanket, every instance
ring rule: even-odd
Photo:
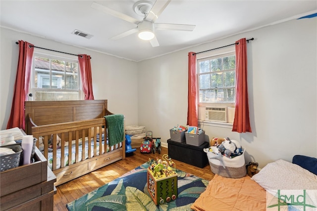
[[[284,160],[267,164],[251,177],[265,190],[317,190],[317,175]]]

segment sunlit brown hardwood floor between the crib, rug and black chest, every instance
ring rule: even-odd
[[[127,171],[135,169],[145,162],[148,162],[149,158],[161,158],[164,154],[168,154],[167,148],[164,147],[162,147],[161,154],[142,154],[140,153],[140,148],[137,148],[133,155],[127,156],[125,160],[117,161],[106,167],[57,186],[57,193],[54,195],[54,211],[67,211],[67,203],[72,202],[73,200],[78,199],[79,197],[116,179]],[[201,178],[211,180],[214,176],[209,165],[201,169],[180,161],[173,161],[176,164],[177,169],[186,171]]]

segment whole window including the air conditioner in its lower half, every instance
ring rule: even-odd
[[[230,127],[235,112],[234,48],[197,57],[197,78],[199,120],[213,126]]]

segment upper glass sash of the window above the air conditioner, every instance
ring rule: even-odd
[[[235,53],[198,60],[199,102],[234,103]]]

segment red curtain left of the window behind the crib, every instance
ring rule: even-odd
[[[19,60],[16,72],[11,114],[7,129],[19,127],[25,129],[24,103],[29,92],[32,71],[32,57],[34,45],[29,42],[19,41]]]

